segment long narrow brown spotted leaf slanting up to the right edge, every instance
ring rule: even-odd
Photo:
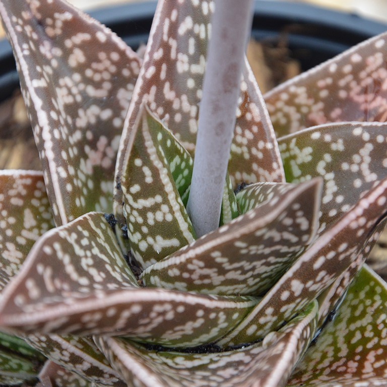
[[[365,260],[385,224],[387,179],[367,192],[351,211],[321,235],[265,295],[249,316],[219,345],[259,340],[302,310],[310,300]]]

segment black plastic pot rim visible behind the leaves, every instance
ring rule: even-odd
[[[146,43],[156,2],[127,4],[90,12],[137,49]],[[387,30],[387,24],[354,14],[326,10],[305,4],[255,0],[252,36],[258,40],[286,38],[291,56],[307,70],[371,36]],[[18,75],[11,47],[0,41],[0,101],[18,87]]]

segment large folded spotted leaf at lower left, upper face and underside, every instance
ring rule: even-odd
[[[89,213],[34,245],[3,293],[0,325],[24,333],[125,335],[197,346],[230,332],[258,301],[138,288],[110,225],[102,214]]]

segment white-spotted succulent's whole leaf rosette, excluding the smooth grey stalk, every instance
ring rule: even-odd
[[[387,286],[364,261],[387,210],[387,35],[266,103],[245,62],[220,227],[197,239],[213,12],[161,0],[142,60],[62,0],[0,1],[43,168],[0,174],[2,383],[386,383]]]

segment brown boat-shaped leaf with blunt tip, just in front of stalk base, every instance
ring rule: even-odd
[[[259,295],[317,231],[321,180],[281,184],[270,201],[185,246],[141,274],[147,286]]]

